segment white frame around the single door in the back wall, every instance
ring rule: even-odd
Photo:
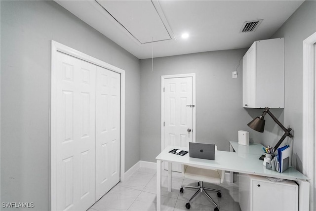
[[[191,77],[192,78],[192,104],[195,107],[192,109],[192,130],[194,131],[192,134],[192,142],[196,142],[196,74],[195,73],[188,73],[188,74],[178,74],[178,75],[165,75],[161,76],[161,151],[164,149],[164,94],[163,94],[163,87],[164,87],[164,79],[172,79],[172,78],[185,78]]]

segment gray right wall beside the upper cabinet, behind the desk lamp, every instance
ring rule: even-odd
[[[272,38],[284,37],[284,109],[272,109],[284,127],[294,130],[294,138],[285,143],[293,145],[293,166],[302,171],[303,122],[303,41],[316,32],[316,1],[305,1],[276,31]],[[283,131],[270,117],[266,119],[263,144],[275,145]],[[277,136],[276,136],[277,134]]]

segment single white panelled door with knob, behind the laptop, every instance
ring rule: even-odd
[[[192,142],[192,77],[164,79],[164,148],[188,147]],[[167,164],[165,164],[167,169]],[[180,165],[172,165],[172,170],[181,171]]]

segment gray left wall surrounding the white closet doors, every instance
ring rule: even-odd
[[[0,3],[1,202],[34,202],[32,210],[44,211],[51,40],[126,71],[125,170],[139,161],[140,62],[54,1]]]

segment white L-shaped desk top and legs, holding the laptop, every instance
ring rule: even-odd
[[[168,163],[168,191],[171,192],[171,164],[185,164],[201,168],[211,168],[228,170],[240,173],[254,174],[260,176],[270,176],[282,179],[298,181],[299,179],[307,180],[308,178],[294,168],[289,168],[283,173],[266,169],[259,160],[257,154],[235,153],[226,151],[215,151],[215,160],[205,160],[190,158],[189,153],[180,156],[169,153],[172,149],[177,148],[189,151],[185,147],[168,146],[157,157],[157,211],[161,209],[160,190],[161,190],[161,163]]]

